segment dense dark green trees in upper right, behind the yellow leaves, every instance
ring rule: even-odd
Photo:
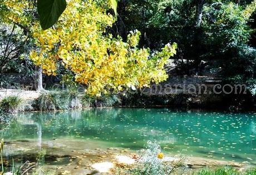
[[[201,74],[199,65],[204,60],[212,73],[254,87],[256,50],[251,38],[255,35],[256,2],[239,2],[121,1],[125,30],[118,31],[122,35],[131,28],[139,29],[143,33],[141,47],[178,43],[175,59],[180,62],[181,74]]]

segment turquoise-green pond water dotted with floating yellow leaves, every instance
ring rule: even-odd
[[[148,140],[164,152],[256,164],[256,115],[169,109],[90,109],[17,115],[7,142],[75,139],[140,150]],[[97,145],[95,145],[97,148]]]

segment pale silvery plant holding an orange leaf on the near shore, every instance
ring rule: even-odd
[[[127,174],[154,174],[165,175],[173,172],[171,163],[163,161],[161,147],[156,142],[148,141],[146,150],[139,152],[139,159],[134,168],[127,171]]]

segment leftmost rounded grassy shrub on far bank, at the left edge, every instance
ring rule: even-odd
[[[0,109],[8,113],[22,111],[22,99],[18,96],[4,97],[0,102]]]

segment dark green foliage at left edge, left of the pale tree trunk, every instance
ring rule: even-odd
[[[17,25],[0,25],[0,86],[14,84],[6,75],[13,74],[14,79],[26,81],[33,78],[35,65],[28,59],[33,41],[26,35],[27,31]],[[17,85],[18,86],[18,85]]]

